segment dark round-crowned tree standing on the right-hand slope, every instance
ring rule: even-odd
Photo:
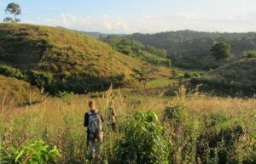
[[[226,42],[217,42],[213,44],[212,48],[210,49],[210,54],[215,58],[216,61],[218,61],[218,68],[222,59],[229,59],[231,57],[230,51],[230,44]]]

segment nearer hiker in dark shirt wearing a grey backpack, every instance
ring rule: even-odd
[[[100,160],[103,142],[102,123],[104,120],[99,110],[96,110],[96,103],[94,101],[89,102],[89,109],[84,114],[84,127],[87,127],[89,158],[92,160],[94,153],[96,153],[96,159]]]

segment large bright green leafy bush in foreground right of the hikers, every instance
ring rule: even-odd
[[[126,127],[125,137],[116,145],[119,163],[168,163],[168,142],[163,130],[154,112],[137,113]]]

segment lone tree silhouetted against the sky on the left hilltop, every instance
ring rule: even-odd
[[[15,17],[14,17],[14,20],[13,19],[10,19],[10,17],[7,17],[5,18],[3,21],[4,22],[11,22],[11,23],[17,23],[17,22],[20,22],[20,19],[17,19],[17,15],[21,14],[21,8],[20,8],[20,5],[17,4],[17,3],[9,3],[5,9],[5,13],[6,14],[14,14]],[[6,21],[8,20],[8,21]],[[11,21],[12,20],[12,21]]]

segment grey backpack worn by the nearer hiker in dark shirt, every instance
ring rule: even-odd
[[[101,133],[102,132],[102,118],[98,114],[98,110],[95,112],[89,111],[89,125],[88,130],[90,133]]]

